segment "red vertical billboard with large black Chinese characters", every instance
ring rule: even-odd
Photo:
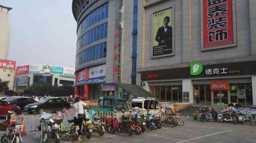
[[[233,0],[203,0],[201,13],[202,51],[237,45]]]

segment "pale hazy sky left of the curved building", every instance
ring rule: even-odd
[[[72,0],[0,0],[12,7],[9,59],[18,66],[75,67],[76,21]]]

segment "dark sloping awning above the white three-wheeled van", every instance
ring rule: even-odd
[[[142,87],[135,85],[135,84],[124,84],[124,83],[117,83],[118,86],[122,87],[124,90],[129,92],[129,94],[137,97],[155,97],[148,91],[144,90]]]

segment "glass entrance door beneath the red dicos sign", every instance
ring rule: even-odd
[[[228,92],[227,91],[213,91],[214,106],[227,106],[228,105]]]

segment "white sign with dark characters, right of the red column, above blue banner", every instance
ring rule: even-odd
[[[98,65],[89,68],[89,78],[97,78],[99,76],[105,76],[106,74],[106,64]]]

